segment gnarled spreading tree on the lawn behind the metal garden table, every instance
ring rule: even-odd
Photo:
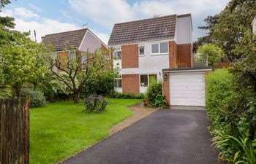
[[[54,50],[50,50],[53,52]],[[70,52],[76,51],[72,48]],[[81,63],[81,59],[86,60]],[[92,74],[105,71],[105,65],[110,64],[105,60],[102,50],[97,50],[94,54],[89,52],[81,52],[75,59],[68,57],[59,57],[57,59],[52,58],[52,53],[49,53],[47,61],[50,73],[48,77],[59,80],[64,83],[74,96],[74,102],[78,103],[80,100],[80,93],[86,84],[87,79]]]

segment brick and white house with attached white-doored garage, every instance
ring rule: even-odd
[[[167,15],[116,23],[108,42],[118,93],[145,93],[151,82],[163,83],[170,106],[205,106],[204,76],[193,68],[192,17]]]

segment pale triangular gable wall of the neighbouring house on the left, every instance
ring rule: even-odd
[[[87,50],[90,53],[94,53],[95,50],[98,48],[101,48],[102,44],[99,42],[98,39],[96,39],[89,31],[87,31],[85,38],[83,39],[82,44],[80,45],[80,51],[87,52]]]

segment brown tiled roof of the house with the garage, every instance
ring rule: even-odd
[[[110,35],[108,45],[129,44],[159,39],[174,39],[177,17],[187,15],[167,15],[126,23],[116,23]]]

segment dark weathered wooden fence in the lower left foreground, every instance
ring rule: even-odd
[[[29,100],[0,99],[0,164],[29,164]]]

